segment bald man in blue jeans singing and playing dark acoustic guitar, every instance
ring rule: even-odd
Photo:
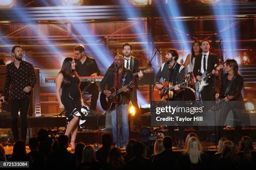
[[[115,67],[108,69],[102,81],[100,82],[100,90],[102,91],[100,95],[100,103],[102,108],[105,110],[112,111],[113,108],[106,109],[108,105],[112,102],[115,104],[118,101],[118,97],[121,97],[120,102],[116,102],[118,115],[120,116],[121,122],[118,119],[118,125],[122,127],[122,134],[120,130],[117,130],[116,121],[116,109],[111,112],[112,117],[112,133],[114,142],[118,147],[125,147],[129,138],[129,126],[128,126],[128,111],[129,102],[131,101],[131,92],[134,86],[133,72],[124,67],[124,57],[123,55],[116,55],[114,61]],[[115,81],[117,80],[117,82]],[[105,87],[107,85],[107,88]],[[114,92],[112,87],[117,87],[120,90]],[[118,96],[120,94],[120,96]],[[104,106],[105,105],[105,106]],[[103,109],[104,109],[103,108]],[[118,134],[117,134],[118,132]],[[118,143],[117,143],[118,141]]]

